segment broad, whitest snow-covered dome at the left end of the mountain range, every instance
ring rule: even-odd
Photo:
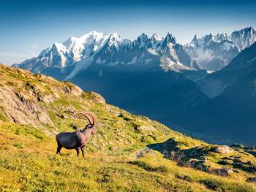
[[[106,35],[97,31],[91,31],[82,37],[70,37],[63,43],[53,43],[38,55],[37,58],[31,58],[19,66],[23,69],[29,69],[32,72],[40,73],[45,69],[60,69],[65,72],[79,67],[86,69],[94,58],[94,55],[102,50],[102,47],[118,47],[125,44],[126,39],[121,39],[117,34]],[[80,64],[82,63],[82,64]]]

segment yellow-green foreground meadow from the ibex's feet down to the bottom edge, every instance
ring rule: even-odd
[[[86,158],[75,150],[60,156],[55,139],[36,128],[1,123],[0,131],[0,188],[6,191],[255,191],[242,177],[180,167],[155,151],[137,159],[133,150],[117,154],[90,142]]]

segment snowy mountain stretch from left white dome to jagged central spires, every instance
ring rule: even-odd
[[[63,43],[53,43],[42,50],[37,58],[14,66],[36,73],[58,69],[59,75],[64,74],[64,79],[70,79],[91,64],[136,64],[141,67],[155,64],[165,72],[200,69],[171,34],[167,34],[165,38],[157,34],[152,37],[141,34],[131,41],[122,39],[118,34],[107,35],[97,31],[79,38],[71,37]]]

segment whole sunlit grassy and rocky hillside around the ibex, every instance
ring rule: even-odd
[[[255,191],[254,148],[187,137],[71,82],[4,65],[0,72],[0,189]],[[86,125],[78,111],[99,121],[86,158],[56,155],[54,135]]]

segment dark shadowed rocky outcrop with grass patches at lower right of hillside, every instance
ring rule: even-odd
[[[241,154],[245,153],[240,153],[240,151],[238,153],[237,150],[226,145],[188,147],[187,141],[171,138],[162,143],[148,145],[148,147],[159,151],[165,158],[176,161],[179,166],[189,166],[222,177],[230,176],[233,172],[240,172],[240,170],[250,173],[255,173],[256,170],[252,155],[249,161],[249,158],[242,158]],[[246,155],[248,157],[248,154]]]

